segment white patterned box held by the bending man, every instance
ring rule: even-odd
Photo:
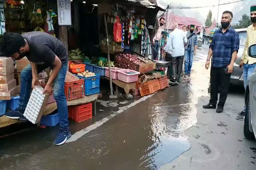
[[[24,112],[24,117],[31,123],[37,124],[43,116],[43,111],[48,101],[49,95],[43,95],[44,89],[41,86],[36,86],[32,90],[27,107]]]

